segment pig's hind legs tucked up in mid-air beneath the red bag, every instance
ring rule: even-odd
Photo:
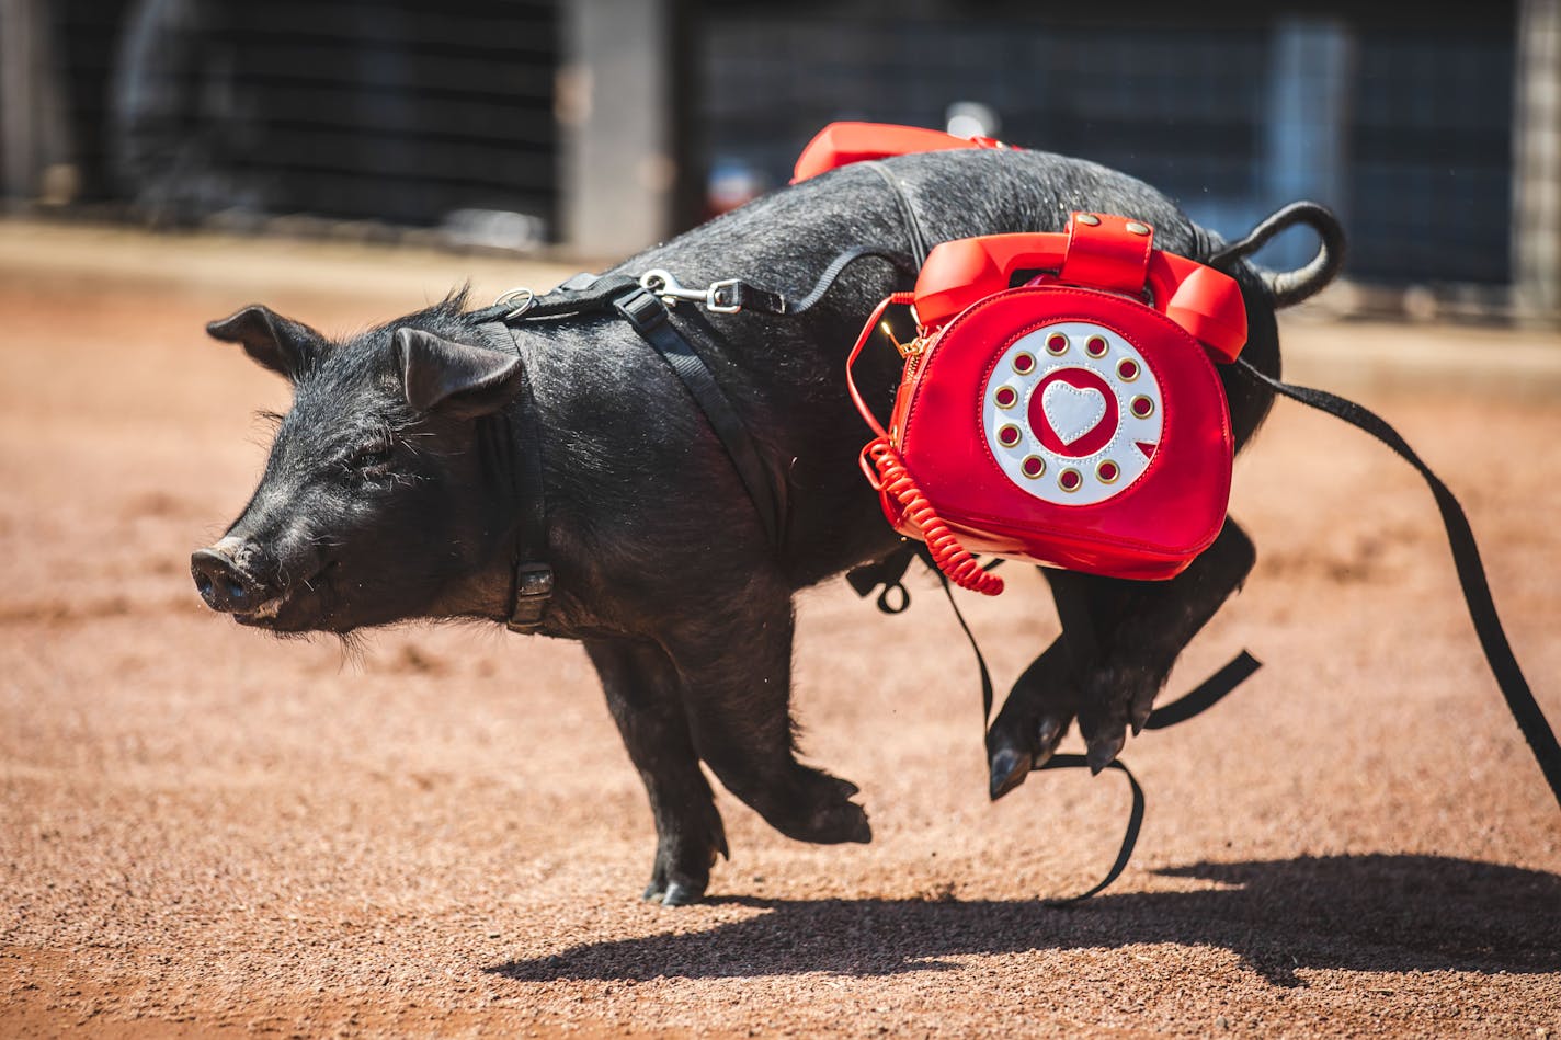
[[[1024,782],[1057,750],[1074,715],[1096,771],[1143,728],[1171,665],[1232,592],[1257,554],[1235,520],[1171,581],[1122,581],[1044,570],[1063,623],[987,734],[991,796]]]

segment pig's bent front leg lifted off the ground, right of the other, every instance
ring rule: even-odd
[[[693,746],[721,784],[776,831],[801,842],[869,842],[855,784],[796,760],[791,700],[791,597],[749,575],[710,597],[665,636],[682,676]]]

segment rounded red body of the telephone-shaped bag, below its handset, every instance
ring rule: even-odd
[[[979,406],[1012,376],[996,370],[1008,345],[1035,331],[1077,325],[1115,333],[1136,348],[1161,387],[1174,387],[1174,394],[1155,395],[1163,409],[1158,439],[1121,439],[1107,459],[1111,483],[1127,479],[1118,476],[1124,465],[1140,473],[1119,493],[1093,504],[1068,501],[1080,483],[1101,479],[1102,445],[1090,434],[1065,451],[1046,453],[1046,472],[1033,483],[1052,481],[1061,490],[1049,495],[1055,501],[1046,501],[1024,490],[1024,478],[1002,472]],[[1080,350],[1077,340],[1069,350]],[[1047,364],[1058,362],[1040,362]],[[933,367],[937,378],[918,378]],[[1072,381],[1088,386],[1082,378]],[[1127,389],[1129,401],[1133,389]],[[1038,423],[1041,390],[1044,379],[1029,397],[1032,408],[1015,409],[1029,417],[1015,420],[1021,429]],[[921,490],[938,503],[938,514],[971,551],[1118,578],[1165,579],[1180,573],[1224,525],[1232,431],[1214,367],[1183,328],[1116,294],[1069,286],[987,297],[940,329],[902,387],[899,404],[890,433],[912,461]],[[1119,422],[1116,415],[1115,408],[1107,411],[1099,428],[1110,433]],[[1035,433],[1051,440],[1054,431]],[[1088,465],[1068,476],[1066,456]],[[898,531],[923,537],[899,501],[882,495],[882,504]]]

